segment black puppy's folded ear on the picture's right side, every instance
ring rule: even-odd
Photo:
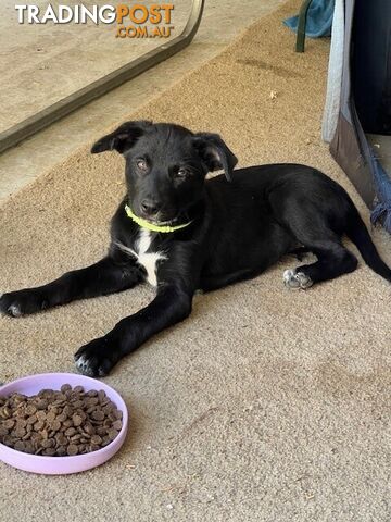
[[[238,159],[234,152],[228,149],[218,134],[194,134],[193,142],[209,172],[223,169],[226,178],[228,182],[231,182],[232,170],[238,163]]]

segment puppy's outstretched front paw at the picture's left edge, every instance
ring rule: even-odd
[[[34,288],[10,291],[0,297],[0,313],[11,318],[39,312],[46,308],[48,308],[47,299]]]

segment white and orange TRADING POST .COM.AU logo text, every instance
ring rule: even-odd
[[[18,24],[115,24],[116,38],[168,38],[174,30],[172,3],[118,5],[15,5]]]

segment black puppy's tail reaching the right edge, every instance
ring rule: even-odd
[[[380,258],[368,229],[353,202],[346,227],[346,236],[358,248],[366,264],[374,272],[381,275],[381,277],[391,282],[391,270]]]

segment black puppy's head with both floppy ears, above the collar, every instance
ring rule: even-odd
[[[202,198],[207,172],[223,169],[230,181],[238,161],[216,134],[147,121],[124,123],[91,152],[105,150],[124,154],[131,210],[155,223],[180,220]]]

